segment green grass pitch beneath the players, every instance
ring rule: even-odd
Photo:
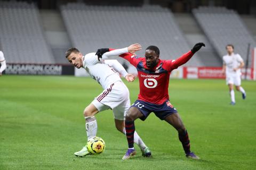
[[[126,83],[131,102],[138,80]],[[102,91],[90,78],[0,77],[0,169],[255,169],[256,82],[243,81],[246,100],[236,92],[229,105],[224,80],[170,80],[170,101],[188,130],[187,159],[177,132],[151,114],[135,121],[136,130],[153,153],[126,161],[125,136],[114,126],[113,114],[97,115],[98,136],[106,142],[99,156],[73,155],[86,143],[83,109]]]

